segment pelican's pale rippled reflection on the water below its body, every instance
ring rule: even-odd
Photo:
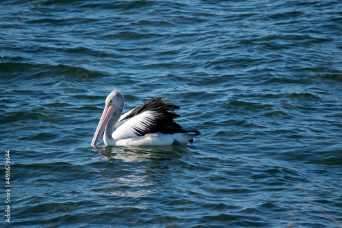
[[[158,186],[170,181],[166,161],[179,158],[182,148],[163,147],[103,147],[94,149],[96,159],[108,162],[106,166],[94,167],[103,178],[101,189],[93,193],[106,196],[143,197],[157,193]],[[135,163],[132,165],[132,163]]]

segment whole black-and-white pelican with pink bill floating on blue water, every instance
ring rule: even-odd
[[[96,128],[92,146],[100,139],[103,130],[105,145],[170,145],[192,142],[200,132],[184,130],[174,122],[174,109],[179,106],[163,102],[163,98],[151,98],[142,106],[122,115],[124,97],[114,89],[105,100],[100,122]]]

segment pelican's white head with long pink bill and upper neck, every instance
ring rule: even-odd
[[[123,109],[124,96],[122,96],[120,91],[114,89],[106,98],[105,109],[103,110],[100,122],[98,122],[94,138],[92,139],[92,146],[96,145],[98,139],[100,139],[103,130],[105,130],[105,127],[109,122],[109,119],[115,114],[115,116],[117,117],[116,121],[118,121],[118,118],[120,117]],[[110,133],[113,133],[115,123],[111,125],[113,125],[111,126],[113,129],[111,129]]]

